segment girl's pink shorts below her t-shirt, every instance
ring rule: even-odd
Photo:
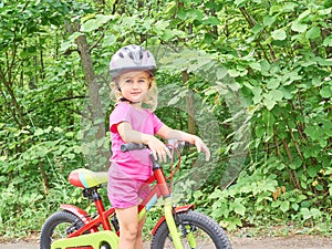
[[[142,180],[110,176],[107,195],[112,207],[128,208],[138,205],[149,194]]]

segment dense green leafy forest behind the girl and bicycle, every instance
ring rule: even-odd
[[[212,151],[184,156],[179,201],[229,231],[331,235],[331,0],[0,1],[0,235],[87,204],[66,178],[108,164],[108,62],[134,43],[159,64],[157,115]]]

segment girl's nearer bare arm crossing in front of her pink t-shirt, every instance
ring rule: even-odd
[[[127,122],[117,124],[117,132],[125,143],[146,144],[155,159],[160,158],[166,162],[166,157],[170,157],[170,152],[166,145],[153,135],[145,134],[133,129],[132,125]]]

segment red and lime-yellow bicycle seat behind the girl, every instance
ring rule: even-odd
[[[107,172],[91,172],[86,168],[77,168],[71,172],[69,181],[81,188],[92,188],[108,180]]]

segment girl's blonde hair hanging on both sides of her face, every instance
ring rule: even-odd
[[[121,103],[121,98],[123,97],[118,86],[120,77],[121,75],[114,79],[110,84],[111,98],[115,102],[115,105]],[[147,105],[147,108],[154,112],[157,108],[157,104],[158,104],[157,101],[158,90],[157,90],[157,83],[155,76],[149,75],[149,80],[151,82],[149,82],[149,87],[147,90],[147,94],[145,95],[142,102]]]

